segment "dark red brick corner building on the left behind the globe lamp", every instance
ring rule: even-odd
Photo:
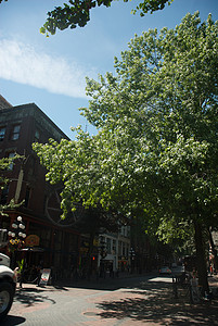
[[[38,246],[26,252],[27,264],[43,261],[44,267],[53,266],[67,277],[79,260],[80,234],[73,227],[75,214],[60,220],[60,189],[46,181],[46,170],[31,149],[33,142],[46,143],[49,138],[60,141],[67,136],[35,104],[12,106],[0,96],[0,158],[23,155],[10,166],[10,179],[0,192],[1,203],[15,199],[21,206],[0,216],[0,227],[10,229],[21,215],[29,236],[39,237]],[[24,252],[18,253],[21,256]]]

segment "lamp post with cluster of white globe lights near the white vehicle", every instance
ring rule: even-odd
[[[15,267],[16,263],[16,252],[18,249],[24,247],[24,239],[26,238],[26,227],[22,220],[22,216],[17,216],[16,220],[11,225],[11,230],[8,233],[11,237],[9,244],[10,251],[12,252],[12,268]]]

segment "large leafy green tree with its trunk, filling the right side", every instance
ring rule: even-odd
[[[201,23],[198,13],[136,36],[115,58],[115,75],[87,79],[81,112],[98,135],[78,127],[74,141],[34,146],[48,179],[64,181],[63,216],[82,199],[126,216],[140,211],[162,235],[170,224],[167,239],[193,228],[204,290],[203,234],[218,222],[217,38],[218,22]]]

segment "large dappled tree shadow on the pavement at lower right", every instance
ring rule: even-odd
[[[129,318],[159,325],[218,325],[218,301],[191,305],[184,292],[175,299],[172,287],[167,284],[146,283],[140,289],[124,293],[123,300],[98,303],[101,310],[98,315],[104,319]]]

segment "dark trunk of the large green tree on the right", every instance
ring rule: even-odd
[[[205,249],[203,242],[202,225],[198,222],[194,222],[194,240],[196,248],[196,264],[198,274],[198,284],[202,286],[203,291],[209,292],[208,278],[207,278],[207,264],[205,258]]]

